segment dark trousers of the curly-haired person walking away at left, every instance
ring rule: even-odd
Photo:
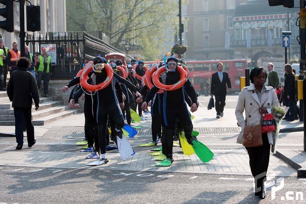
[[[27,124],[27,139],[29,144],[34,143],[34,126],[32,124],[32,111],[31,108],[17,108],[14,107],[15,116],[15,136],[18,144],[23,144],[23,131],[22,131],[22,115],[25,117]]]

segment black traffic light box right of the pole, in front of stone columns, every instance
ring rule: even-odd
[[[40,6],[27,6],[27,31],[40,31]]]

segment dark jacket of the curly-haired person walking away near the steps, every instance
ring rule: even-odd
[[[32,108],[33,100],[35,107],[39,106],[39,95],[36,81],[30,71],[19,68],[13,71],[7,86],[7,94],[12,107]]]

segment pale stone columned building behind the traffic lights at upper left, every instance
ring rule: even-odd
[[[41,33],[41,37],[45,37],[49,32],[65,32],[66,31],[66,0],[29,0],[32,5],[40,6],[40,23],[41,31],[35,32],[35,36]],[[29,2],[25,2],[25,6],[30,5]],[[1,7],[1,6],[0,6]],[[4,6],[3,6],[4,7]],[[2,7],[2,8],[3,8]],[[4,40],[5,46],[12,48],[13,42],[20,44],[19,32],[20,32],[20,8],[19,3],[14,2],[14,32],[9,33],[3,29],[0,29],[0,34]],[[27,18],[26,9],[24,8],[24,19]],[[0,17],[4,20],[3,17]],[[27,22],[25,24],[25,31],[27,31]],[[33,33],[29,33],[30,37]]]

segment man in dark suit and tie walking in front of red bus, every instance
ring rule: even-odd
[[[232,91],[231,80],[228,73],[223,71],[223,63],[217,64],[217,72],[212,75],[211,96],[215,95],[215,108],[217,111],[216,118],[223,117],[223,110],[225,106],[226,84],[228,90]]]

